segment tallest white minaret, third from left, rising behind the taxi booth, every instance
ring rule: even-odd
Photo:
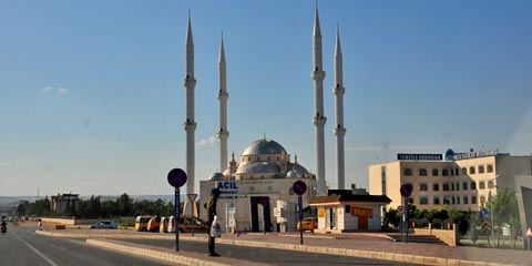
[[[324,127],[327,117],[324,115],[324,78],[325,72],[321,61],[321,30],[319,29],[318,3],[316,1],[316,14],[313,33],[313,71],[310,76],[314,81],[314,117],[316,126],[316,166],[317,166],[317,194],[325,195],[325,139]]]

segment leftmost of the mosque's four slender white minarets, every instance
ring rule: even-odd
[[[192,25],[191,25],[191,13],[188,12],[188,25],[186,29],[186,65],[185,65],[185,79],[183,84],[186,90],[186,121],[184,123],[184,129],[186,131],[186,174],[188,180],[186,181],[186,193],[195,193],[195,176],[194,176],[194,143],[196,131],[196,122],[194,120],[194,88],[196,86],[196,79],[194,79],[194,41],[192,39]]]

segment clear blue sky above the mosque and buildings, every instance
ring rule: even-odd
[[[344,54],[346,187],[397,153],[532,153],[532,2],[319,1],[336,182],[335,34]],[[0,195],[172,194],[185,168],[185,33],[195,44],[196,192],[228,150],[264,136],[316,173],[315,1],[0,0]],[[184,193],[184,192],[182,192]]]

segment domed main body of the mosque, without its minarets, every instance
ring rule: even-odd
[[[224,173],[214,173],[208,181],[200,182],[200,206],[204,205],[211,190],[217,187],[222,191],[217,214],[226,232],[295,231],[298,196],[291,187],[296,181],[307,185],[301,198],[305,208],[316,195],[316,176],[297,162],[297,156],[291,161],[279,143],[268,139],[250,143],[239,162],[233,154]],[[204,211],[202,207],[200,213],[206,218]]]

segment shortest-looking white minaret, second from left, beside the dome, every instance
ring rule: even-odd
[[[224,37],[222,35],[222,43],[219,44],[219,59],[218,59],[218,101],[219,101],[219,172],[224,173],[227,168],[227,139],[229,132],[227,131],[227,80],[226,80],[226,65],[225,65],[225,50],[224,50]]]

